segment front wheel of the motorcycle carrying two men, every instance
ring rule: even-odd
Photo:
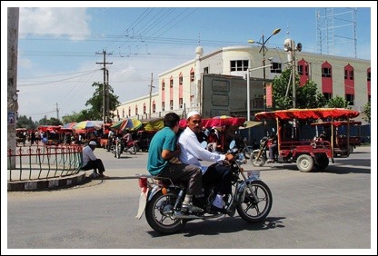
[[[251,190],[254,191],[257,201]],[[272,204],[272,192],[268,185],[262,181],[254,181],[245,187],[244,202],[239,203],[236,210],[245,222],[263,222],[271,212]]]

